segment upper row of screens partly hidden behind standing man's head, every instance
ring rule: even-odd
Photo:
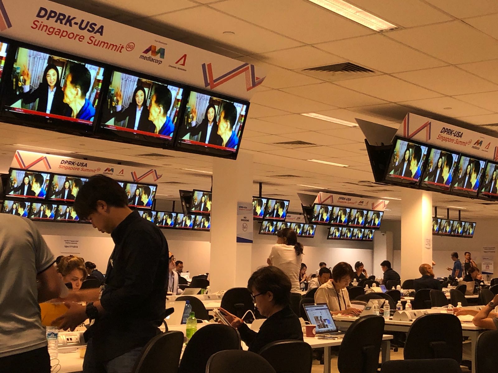
[[[8,173],[5,196],[14,199],[73,203],[88,178],[11,168]],[[156,185],[119,182],[133,208],[151,209]]]

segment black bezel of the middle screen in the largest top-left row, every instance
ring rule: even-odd
[[[186,86],[185,84],[180,84],[176,82],[169,81],[167,79],[162,79],[162,78],[157,78],[152,75],[148,74],[143,74],[140,72],[124,69],[121,67],[114,66],[115,68],[112,69],[113,66],[109,65],[108,70],[105,71],[104,74],[104,80],[102,84],[102,90],[101,92],[106,93],[106,98],[107,94],[109,93],[109,88],[111,85],[112,81],[112,76],[113,73],[119,72],[122,74],[128,74],[132,75],[138,79],[145,79],[149,80],[153,83],[158,83],[163,86],[175,86],[178,88],[181,88],[183,90],[182,92],[182,101],[180,104],[180,108],[178,109],[178,121],[183,118],[183,111],[185,108],[185,92],[188,91],[189,87]],[[139,75],[139,76],[138,76]],[[173,99],[174,102],[174,99]],[[98,120],[95,122],[95,131],[94,135],[97,138],[103,139],[103,140],[110,140],[110,141],[116,141],[116,142],[121,142],[125,144],[133,144],[133,145],[140,145],[140,146],[148,146],[152,148],[160,148],[160,149],[173,149],[174,144],[175,144],[175,138],[176,138],[176,133],[178,132],[178,125],[175,125],[175,130],[173,132],[173,136],[171,137],[170,140],[164,139],[161,137],[156,137],[156,136],[150,136],[150,135],[145,135],[145,134],[138,134],[134,132],[128,132],[128,131],[122,131],[122,130],[115,130],[111,128],[105,127],[105,123],[103,123],[103,117],[104,115],[104,106],[100,107],[99,115],[98,115]]]

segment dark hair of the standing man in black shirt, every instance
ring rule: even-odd
[[[88,219],[91,213],[97,211],[98,200],[113,207],[128,205],[126,192],[117,181],[105,175],[95,175],[83,184],[74,200],[74,209],[80,219]]]

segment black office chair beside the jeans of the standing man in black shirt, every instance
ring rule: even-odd
[[[136,360],[133,373],[177,373],[183,333],[171,331],[153,337]]]

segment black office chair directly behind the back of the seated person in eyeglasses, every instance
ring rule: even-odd
[[[259,355],[276,373],[311,373],[311,346],[303,341],[277,341],[264,346]]]

